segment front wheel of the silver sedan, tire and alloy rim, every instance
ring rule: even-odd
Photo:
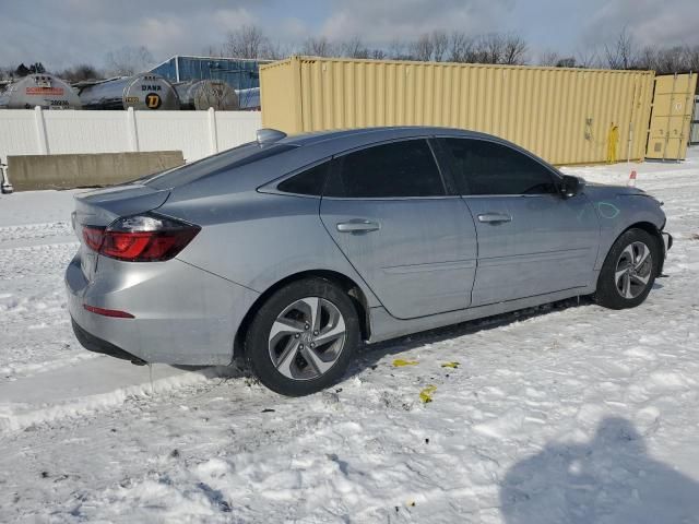
[[[645,300],[660,269],[657,239],[643,229],[628,229],[607,253],[597,279],[595,301],[609,309],[635,308]]]

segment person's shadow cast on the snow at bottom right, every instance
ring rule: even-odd
[[[549,443],[512,466],[500,488],[507,524],[697,523],[699,483],[655,461],[620,417],[591,441]]]

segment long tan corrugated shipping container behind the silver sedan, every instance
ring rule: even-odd
[[[642,159],[652,71],[292,57],[260,68],[262,124],[289,134],[442,126],[510,140],[553,164]]]

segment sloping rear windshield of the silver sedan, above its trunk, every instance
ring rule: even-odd
[[[135,180],[135,182],[150,186],[154,189],[177,188],[220,171],[279,155],[297,146],[289,144],[260,145],[257,142],[249,142],[216,155],[208,156],[201,160],[141,178]]]

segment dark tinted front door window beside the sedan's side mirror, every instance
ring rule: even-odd
[[[440,139],[451,157],[461,194],[545,194],[557,192],[553,174],[535,159],[503,144],[474,139]]]

